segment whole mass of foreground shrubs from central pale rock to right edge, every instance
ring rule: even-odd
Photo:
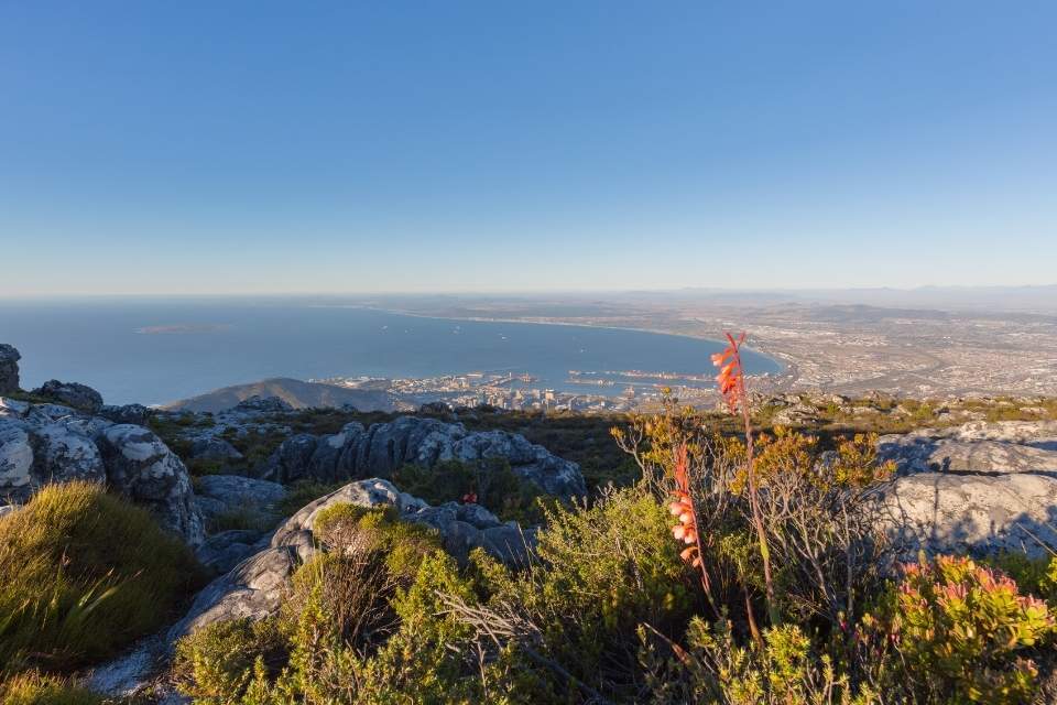
[[[902,566],[860,511],[890,471],[874,438],[824,455],[817,438],[778,432],[754,448],[772,603],[748,447],[701,421],[673,405],[618,432],[642,479],[548,508],[520,568],[480,552],[459,565],[422,528],[335,508],[317,525],[326,557],[299,570],[280,615],[181,643],[182,688],[246,704],[1046,696],[1057,631],[1043,598],[1057,596],[1057,561],[996,561],[1024,585],[968,558]],[[689,524],[668,507],[679,487],[702,538],[689,556]]]

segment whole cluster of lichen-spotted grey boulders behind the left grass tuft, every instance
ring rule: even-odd
[[[204,539],[187,468],[154,433],[0,399],[0,498],[24,502],[45,484],[75,479],[107,482],[192,545]]]

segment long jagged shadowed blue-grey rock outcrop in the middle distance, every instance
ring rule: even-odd
[[[313,478],[336,481],[357,477],[391,477],[397,468],[413,464],[432,468],[458,460],[481,463],[505,460],[522,478],[558,497],[586,492],[584,476],[575,463],[505,431],[467,433],[462,424],[436,419],[402,416],[364,429],[347,424],[340,433],[287,438],[260,470],[261,477],[277,482]]]

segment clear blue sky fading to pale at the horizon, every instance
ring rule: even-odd
[[[1057,283],[1055,26],[0,1],[0,296]]]

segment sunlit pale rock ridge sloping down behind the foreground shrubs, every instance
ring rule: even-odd
[[[481,546],[500,560],[516,563],[526,558],[533,542],[515,523],[504,524],[481,507],[455,503],[429,507],[379,478],[350,482],[302,508],[275,531],[266,546],[210,583],[195,598],[187,615],[170,630],[168,641],[175,642],[216,621],[237,617],[261,619],[274,614],[293,572],[319,550],[313,534],[316,518],[327,507],[341,502],[393,507],[404,521],[435,528],[442,543],[456,557],[465,557],[470,549]]]

